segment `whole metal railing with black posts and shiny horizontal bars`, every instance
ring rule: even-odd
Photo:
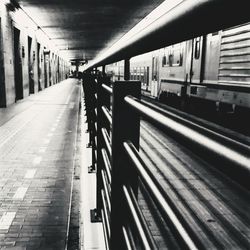
[[[97,83],[87,81],[89,78],[85,84],[94,84],[97,90],[97,99],[89,103],[92,111],[87,109],[93,130],[93,166],[97,166],[97,207],[92,221],[102,221],[107,249],[158,249],[138,205],[139,179],[183,249],[199,249],[202,243],[194,229],[139,154],[140,116],[194,150],[226,163],[234,178],[242,182],[244,176],[246,185],[250,177],[249,147],[141,101],[138,81],[118,81],[112,88],[107,78],[99,78]],[[85,96],[96,97],[93,89],[85,86],[85,91],[90,91]],[[97,126],[93,125],[96,122]]]

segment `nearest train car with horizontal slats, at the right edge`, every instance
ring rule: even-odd
[[[250,108],[250,25],[212,33],[201,41],[187,95],[217,102],[221,109]]]

